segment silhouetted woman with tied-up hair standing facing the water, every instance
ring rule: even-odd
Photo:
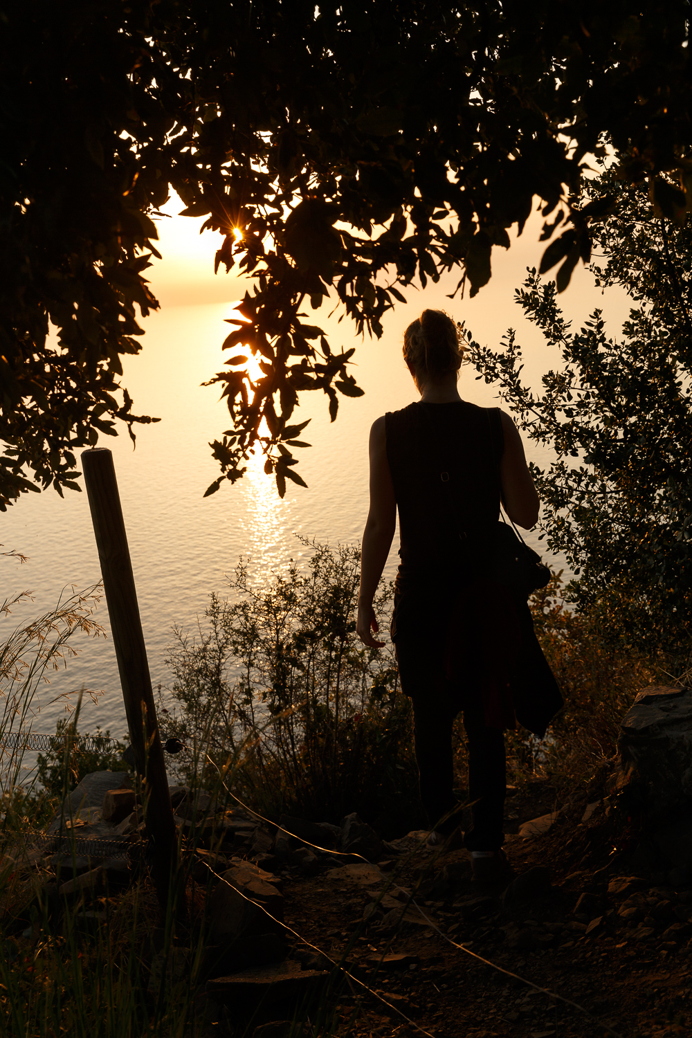
[[[561,706],[525,599],[492,577],[500,499],[528,529],[538,495],[511,418],[463,401],[462,342],[441,310],[404,335],[420,401],[370,430],[370,506],[363,534],[357,632],[381,647],[372,598],[399,516],[400,564],[391,636],[413,703],[428,844],[461,837],[452,793],[452,722],[463,710],[472,826],[464,835],[477,879],[501,878],[506,787],[503,731],[516,714],[543,736]]]

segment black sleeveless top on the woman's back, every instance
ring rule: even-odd
[[[388,412],[385,430],[399,518],[397,591],[471,582],[500,515],[499,410],[415,403]]]

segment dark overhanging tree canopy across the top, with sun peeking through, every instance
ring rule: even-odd
[[[458,269],[473,295],[535,196],[543,240],[559,234],[542,270],[559,264],[564,288],[614,204],[581,194],[606,145],[659,210],[687,210],[688,16],[686,0],[0,0],[0,508],[78,487],[76,447],[153,420],[119,380],[136,307],[158,305],[150,216],[171,189],[224,234],[216,267],[252,278],[210,373],[230,428],[207,493],[261,450],[283,494],[303,482],[298,393],[323,390],[334,419],[361,392],[353,350],[308,308],[336,302],[379,335],[414,281]]]

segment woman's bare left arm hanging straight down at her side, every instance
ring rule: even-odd
[[[364,645],[380,649],[385,643],[372,637],[371,631],[377,633],[379,629],[372,599],[396,528],[396,498],[387,461],[384,418],[378,418],[370,429],[369,456],[370,508],[363,531],[356,631]]]

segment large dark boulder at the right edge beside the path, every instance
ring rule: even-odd
[[[636,808],[655,821],[689,807],[691,746],[692,689],[643,689],[620,726],[619,769],[612,781],[616,791],[627,792],[628,810]]]

